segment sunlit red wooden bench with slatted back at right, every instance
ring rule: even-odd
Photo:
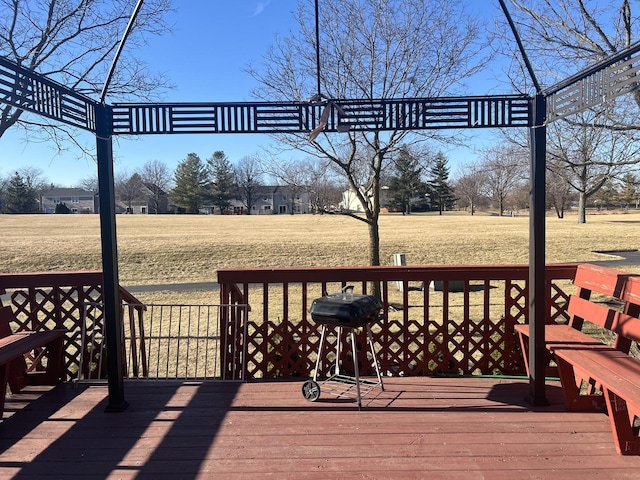
[[[573,283],[577,292],[569,299],[569,323],[545,325],[545,346],[566,406],[606,408],[618,453],[640,455],[640,360],[630,355],[633,342],[640,341],[640,275],[584,264]],[[597,302],[592,294],[606,298]],[[515,328],[528,373],[529,325]],[[601,341],[593,336],[598,332],[613,338]]]

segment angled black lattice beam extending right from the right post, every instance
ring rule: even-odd
[[[547,122],[588,110],[640,85],[640,43],[542,92],[547,101]]]

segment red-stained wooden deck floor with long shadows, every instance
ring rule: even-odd
[[[32,387],[8,396],[0,478],[640,479],[607,416],[566,412],[557,385],[534,409],[521,379],[390,378],[362,411],[301,386],[126,382],[122,413],[105,385]]]

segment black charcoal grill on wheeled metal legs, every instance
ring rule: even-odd
[[[347,385],[346,389],[337,392],[338,397],[350,396],[350,391],[355,387],[358,409],[362,408],[362,396],[369,393],[376,387],[380,387],[384,391],[382,383],[382,375],[380,375],[380,366],[376,358],[376,352],[373,347],[373,337],[371,335],[370,323],[380,316],[382,304],[371,295],[354,295],[353,287],[347,286],[342,292],[326,295],[318,298],[311,304],[311,318],[314,322],[322,325],[320,334],[320,343],[318,345],[318,356],[316,358],[315,370],[313,378],[307,380],[302,385],[302,395],[310,402],[315,402],[320,398],[320,385],[329,385],[336,382],[341,385]],[[331,367],[329,376],[326,380],[319,383],[320,360],[322,358],[322,350],[327,340],[327,327],[337,327],[336,332],[336,361]],[[377,381],[361,380],[358,369],[358,357],[356,349],[356,330],[363,328],[366,331],[367,343],[371,351],[371,358],[376,369]],[[343,375],[340,373],[340,343],[342,335],[346,334],[351,340],[351,353],[353,357],[354,376]],[[361,386],[366,387],[366,391],[361,391]],[[352,396],[352,394],[351,394]]]

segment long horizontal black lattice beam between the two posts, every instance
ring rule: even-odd
[[[519,95],[327,102],[115,104],[115,134],[305,133],[530,126],[529,99]]]

